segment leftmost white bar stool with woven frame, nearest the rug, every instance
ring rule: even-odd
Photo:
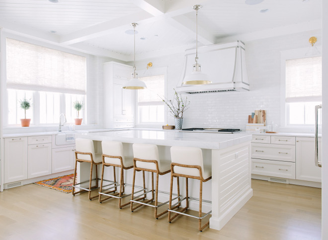
[[[73,179],[73,195],[78,194],[78,193],[82,193],[85,191],[88,191],[88,197],[89,200],[92,200],[93,198],[96,198],[99,196],[93,196],[91,197],[91,191],[98,188],[98,167],[97,165],[102,163],[101,160],[101,154],[95,154],[94,153],[94,146],[93,146],[93,141],[90,139],[83,139],[83,138],[77,138],[75,140],[76,143],[76,149],[77,151],[75,151],[75,169],[74,169],[74,179]],[[78,166],[78,162],[90,162],[91,166],[90,166],[90,177],[89,180],[80,182],[80,183],[76,183],[76,175],[77,175],[77,166]],[[92,179],[92,170],[93,170],[93,165],[95,165],[95,178]],[[91,182],[95,180],[96,183],[94,186],[91,186]],[[87,183],[89,182],[89,187],[88,188],[84,188],[81,186],[78,186],[82,183]],[[79,188],[82,189],[78,192],[75,192],[75,188]]]

